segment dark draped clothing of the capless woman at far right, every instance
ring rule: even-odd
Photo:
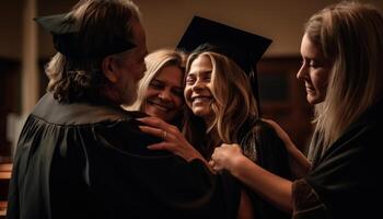
[[[293,182],[293,218],[381,217],[382,112],[383,101],[351,124],[323,155],[314,150],[312,171]]]

